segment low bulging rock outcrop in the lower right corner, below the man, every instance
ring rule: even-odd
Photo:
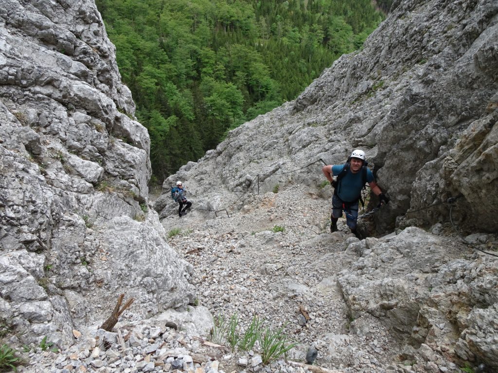
[[[416,227],[350,244],[359,258],[338,278],[355,319],[374,316],[425,349],[496,368],[496,259],[461,259],[459,248]],[[427,361],[435,361],[428,359]]]

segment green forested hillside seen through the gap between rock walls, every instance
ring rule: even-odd
[[[362,47],[389,1],[96,0],[150,135],[151,181],[296,98]]]

